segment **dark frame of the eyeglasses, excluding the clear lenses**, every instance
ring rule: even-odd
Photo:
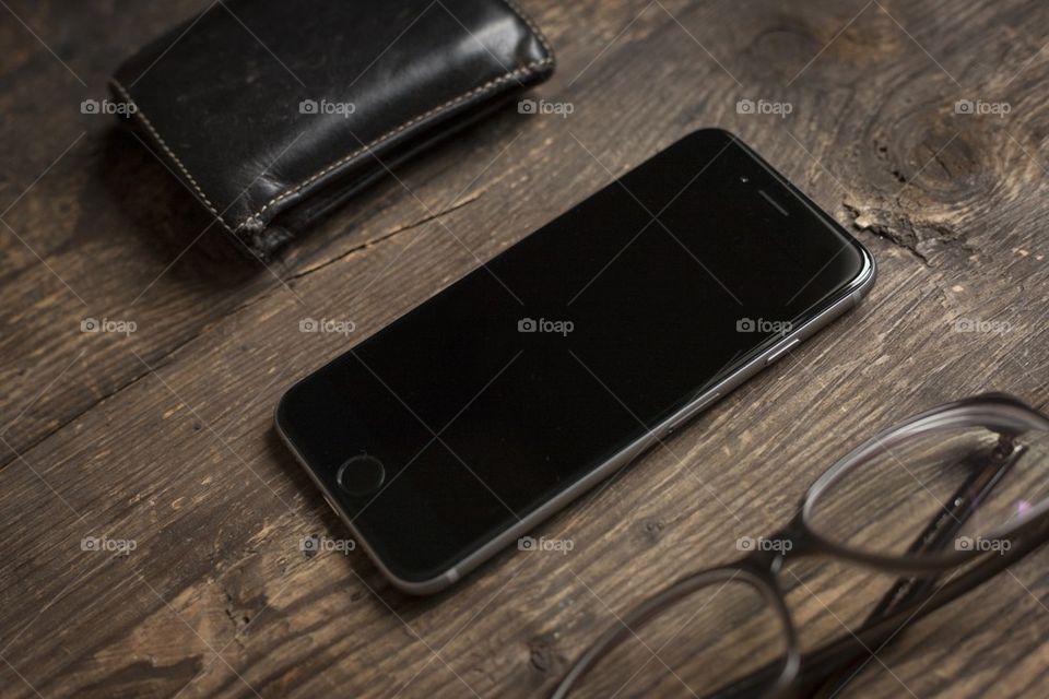
[[[830,685],[840,687],[847,684],[852,677],[848,671],[854,667],[864,655],[871,653],[870,648],[888,643],[904,627],[967,594],[1049,541],[1049,498],[1047,498],[1036,505],[1021,521],[999,526],[985,535],[988,540],[1009,541],[1011,545],[1007,550],[974,549],[936,555],[921,554],[922,548],[928,548],[930,544],[939,546],[962,529],[965,520],[979,508],[981,496],[989,493],[998,478],[1012,465],[1007,460],[994,473],[989,473],[985,467],[970,475],[948,500],[947,506],[941,508],[932,522],[926,526],[906,554],[888,556],[849,548],[826,538],[813,528],[812,508],[820,496],[849,473],[856,464],[862,463],[864,458],[875,452],[886,451],[899,441],[956,426],[989,428],[999,434],[1001,443],[1003,439],[1007,438],[1011,441],[1028,431],[1049,433],[1049,416],[1012,395],[985,393],[932,407],[881,430],[838,459],[809,486],[801,498],[798,512],[790,522],[766,537],[765,541],[769,542],[769,546],[755,549],[734,562],[683,576],[620,617],[615,626],[598,637],[576,660],[555,687],[551,699],[565,699],[571,696],[570,691],[578,688],[575,685],[584,679],[605,655],[634,635],[635,628],[640,628],[663,609],[683,602],[696,591],[718,582],[729,581],[750,584],[762,593],[768,608],[779,618],[786,652],[782,662],[778,664],[778,671],[776,664],[770,663],[728,686],[719,687],[715,694],[706,695],[705,699],[751,698],[754,696],[755,687],[762,688],[763,696],[782,699],[811,696],[821,687],[826,688]],[[1006,454],[1010,458],[1013,455]],[[1015,458],[1019,455],[1015,454]],[[1015,459],[1012,461],[1015,462]],[[979,481],[976,476],[989,476],[989,479],[983,478],[985,483],[977,497],[963,497],[962,494],[966,493],[973,482]],[[967,511],[964,512],[964,519],[959,520],[958,509],[962,507]],[[950,529],[943,529],[944,522]],[[825,555],[875,570],[910,577],[899,578],[893,584],[859,629],[803,654],[793,618],[787,608],[779,571],[788,556],[793,558],[815,555]],[[935,584],[940,574],[960,570],[977,561],[979,565],[971,569],[959,572],[939,587]],[[924,577],[921,573],[924,573]],[[936,576],[930,578],[931,573]],[[778,676],[773,677],[773,673],[776,672]]]

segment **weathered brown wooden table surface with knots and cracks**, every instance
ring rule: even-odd
[[[192,199],[79,109],[211,3],[2,3],[4,698],[540,696],[646,591],[781,524],[872,426],[989,389],[1049,399],[1049,5],[521,1],[558,54],[535,96],[573,114],[507,109],[264,268],[216,251],[217,228],[190,245],[208,225]],[[306,556],[304,536],[344,530],[272,411],[347,341],[299,321],[367,336],[708,126],[856,232],[881,268],[869,299],[537,533],[570,537],[567,556],[508,550],[432,599],[361,552]],[[137,329],[81,332],[87,318]],[[846,696],[1046,696],[1046,562],[924,619]],[[864,573],[811,568],[789,595],[806,644],[872,601]]]

